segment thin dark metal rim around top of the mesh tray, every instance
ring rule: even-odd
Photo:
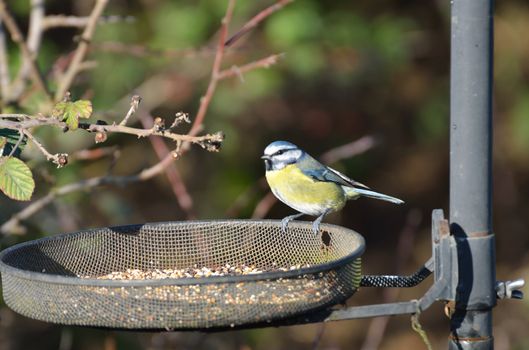
[[[145,223],[145,224],[131,224],[131,225],[120,225],[120,226],[109,226],[109,229],[113,228],[120,228],[123,229],[124,227],[138,227],[138,226],[144,226],[144,225],[156,225],[156,224],[175,224],[175,223],[189,223],[192,222],[193,224],[236,224],[236,223],[266,223],[266,224],[278,224],[280,225],[280,220],[193,220],[193,221],[164,221],[164,222],[153,222],[153,223]],[[303,221],[292,221],[289,223],[289,228],[295,228],[295,227],[311,227],[310,222],[303,222]],[[64,285],[82,285],[82,286],[101,286],[101,287],[134,287],[134,286],[166,286],[166,285],[175,285],[175,286],[184,286],[184,285],[204,285],[204,284],[215,284],[215,283],[239,283],[239,282],[246,282],[246,281],[258,281],[258,280],[277,280],[281,278],[290,278],[290,277],[296,277],[301,276],[305,274],[317,274],[320,272],[326,272],[329,270],[332,270],[334,268],[343,266],[347,263],[352,262],[353,260],[359,258],[365,250],[365,240],[362,235],[357,233],[356,231],[350,230],[348,228],[344,228],[342,226],[333,225],[333,224],[322,224],[321,225],[321,232],[317,234],[321,234],[325,232],[326,228],[336,228],[339,230],[345,230],[349,232],[350,234],[353,234],[356,236],[356,239],[358,239],[358,246],[348,255],[338,258],[336,260],[333,260],[331,262],[325,262],[325,263],[319,263],[317,265],[312,265],[309,267],[301,267],[299,269],[295,270],[289,270],[289,271],[271,271],[271,272],[263,272],[258,274],[249,274],[249,275],[228,275],[228,276],[212,276],[212,277],[201,277],[201,278],[164,278],[164,279],[144,279],[144,280],[102,280],[97,278],[80,278],[77,276],[64,276],[64,275],[52,275],[52,274],[45,274],[41,272],[36,271],[28,271],[19,269],[16,267],[13,267],[9,264],[6,264],[4,262],[5,256],[10,254],[12,251],[16,249],[20,249],[25,246],[35,245],[40,242],[47,242],[47,241],[53,241],[53,240],[60,240],[64,237],[67,237],[72,234],[82,234],[87,232],[92,232],[94,229],[86,229],[82,231],[76,231],[73,233],[63,233],[59,235],[55,235],[52,237],[44,237],[32,241],[22,242],[15,244],[9,248],[4,249],[2,252],[0,252],[0,270],[6,271],[10,274],[13,274],[17,277],[24,278],[27,280],[33,280],[33,281],[41,281],[41,282],[48,282],[48,283],[54,283],[54,284],[64,284]],[[286,232],[285,234],[288,234]]]

